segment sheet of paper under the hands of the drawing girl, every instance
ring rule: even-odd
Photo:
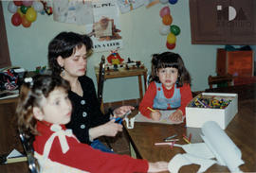
[[[170,124],[170,125],[173,125],[173,124],[180,124],[180,123],[183,123],[183,119],[182,121],[178,121],[178,122],[175,122],[175,121],[171,121],[169,119],[169,116],[175,112],[175,110],[170,110],[170,111],[160,111],[162,116],[161,116],[161,119],[159,121],[154,121],[150,118],[147,118],[146,116],[142,115],[140,112],[137,113],[137,115],[135,116],[136,119],[135,119],[135,122],[143,122],[143,123],[160,123],[160,124]]]

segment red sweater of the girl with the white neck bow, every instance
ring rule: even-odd
[[[46,122],[38,122],[37,130],[40,135],[35,136],[34,150],[43,155],[44,147],[48,138],[54,131]],[[65,130],[64,125],[62,125]],[[60,164],[76,167],[88,172],[147,172],[148,162],[146,160],[134,159],[128,155],[105,153],[94,149],[86,144],[80,143],[75,137],[65,136],[69,150],[63,153],[58,137],[55,137],[48,158]]]

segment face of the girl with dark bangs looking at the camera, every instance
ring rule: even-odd
[[[157,71],[157,77],[165,88],[170,90],[177,81],[178,69],[173,67],[160,68]]]

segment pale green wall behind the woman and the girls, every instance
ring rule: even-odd
[[[12,26],[11,13],[8,11],[8,1],[2,1],[6,20],[9,52],[12,65],[19,65],[27,70],[34,70],[36,66],[47,65],[47,44],[61,31],[75,31],[84,33],[84,26],[57,23],[52,16],[38,14],[37,20],[28,28]],[[159,10],[164,5],[158,4],[150,9],[141,7],[131,12],[120,14],[123,48],[120,56],[127,60],[143,61],[150,69],[151,55],[169,51],[166,46],[166,36],[158,32],[161,24]],[[181,55],[192,76],[192,91],[208,88],[207,78],[215,75],[216,48],[224,45],[200,45],[191,43],[189,0],[179,0],[170,5],[174,25],[181,28],[177,36],[174,52]],[[96,83],[93,66],[99,63],[101,55],[110,52],[94,53],[88,61],[87,76]],[[106,80],[103,98],[105,102],[138,97],[137,78],[116,78]]]

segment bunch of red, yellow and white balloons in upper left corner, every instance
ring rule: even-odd
[[[44,10],[44,5],[40,1],[9,1],[8,10],[13,13],[11,17],[13,26],[29,27],[36,20],[37,12]]]

